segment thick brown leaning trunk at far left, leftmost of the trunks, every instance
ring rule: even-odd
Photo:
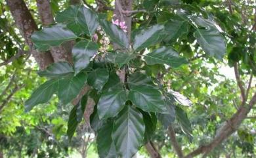
[[[33,31],[37,30],[37,25],[33,20],[32,14],[23,0],[6,0],[12,16],[16,22],[16,26],[22,33],[27,45],[30,47],[30,52],[35,58],[40,69],[45,69],[49,64],[53,63],[53,57],[50,52],[38,52],[33,47],[30,39]]]

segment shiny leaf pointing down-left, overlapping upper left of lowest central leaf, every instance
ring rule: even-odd
[[[115,117],[125,106],[127,100],[125,90],[104,92],[98,100],[98,114],[100,119]]]

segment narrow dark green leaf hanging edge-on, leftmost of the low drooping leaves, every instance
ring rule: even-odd
[[[67,134],[68,134],[68,139],[69,140],[71,140],[71,138],[74,136],[75,130],[76,130],[77,125],[79,123],[77,121],[76,111],[77,111],[77,105],[75,105],[74,108],[70,111],[70,116],[68,118]]]

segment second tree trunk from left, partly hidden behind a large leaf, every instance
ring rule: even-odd
[[[49,26],[54,23],[49,0],[37,0],[37,9],[43,26]],[[70,47],[72,47],[72,45],[70,45]],[[54,62],[68,61],[72,64],[71,49],[65,49],[60,45],[58,47],[52,47],[51,54]]]

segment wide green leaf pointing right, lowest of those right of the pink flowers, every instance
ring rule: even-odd
[[[179,57],[179,54],[171,47],[160,47],[153,50],[145,55],[144,60],[148,65],[167,64],[174,68],[188,63],[185,58]]]

